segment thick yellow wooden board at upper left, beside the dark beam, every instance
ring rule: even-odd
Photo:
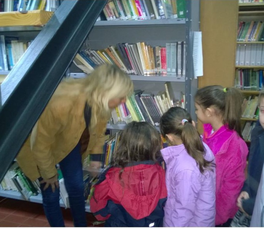
[[[53,12],[43,10],[1,12],[0,27],[43,26],[52,15]]]

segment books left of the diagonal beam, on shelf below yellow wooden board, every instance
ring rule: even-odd
[[[0,35],[0,70],[11,70],[30,43],[31,41],[19,41],[18,36]]]

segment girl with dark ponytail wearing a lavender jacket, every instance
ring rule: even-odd
[[[212,151],[202,142],[190,114],[181,107],[172,107],[163,114],[160,131],[172,145],[161,150],[168,191],[163,226],[215,226]]]

